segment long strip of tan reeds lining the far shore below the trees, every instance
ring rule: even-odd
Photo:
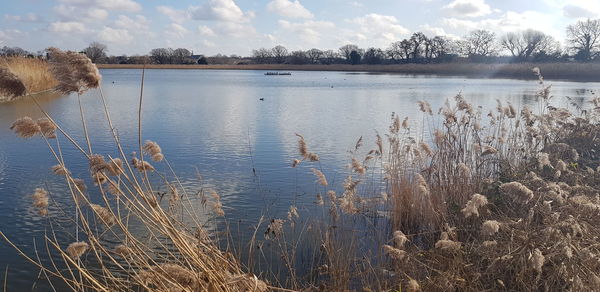
[[[100,69],[141,69],[142,64],[97,64]],[[539,67],[546,79],[570,81],[599,81],[600,63],[515,63],[515,64],[399,64],[399,65],[171,65],[149,64],[146,69],[195,69],[195,70],[266,70],[266,71],[343,71],[367,73],[398,73],[414,75],[443,75],[481,78],[536,79],[532,73]]]

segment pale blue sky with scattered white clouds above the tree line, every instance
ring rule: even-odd
[[[98,41],[110,55],[159,47],[242,56],[276,45],[385,48],[416,31],[458,38],[474,29],[532,28],[562,42],[567,25],[600,17],[600,0],[0,1],[0,46],[82,50]]]

